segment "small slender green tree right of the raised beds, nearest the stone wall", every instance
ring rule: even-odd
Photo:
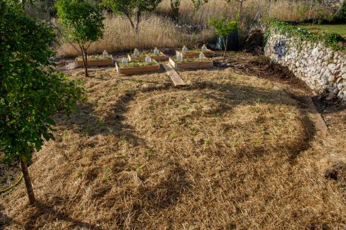
[[[226,56],[227,44],[228,44],[228,36],[231,32],[237,31],[237,22],[228,21],[225,16],[220,19],[211,19],[210,26],[215,28],[215,32],[219,35],[224,43],[224,57]]]

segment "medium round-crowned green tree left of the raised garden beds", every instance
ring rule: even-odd
[[[64,26],[66,39],[75,50],[82,53],[85,77],[88,74],[88,48],[93,41],[98,41],[103,35],[102,10],[86,0],[59,0],[57,1],[57,15]],[[89,43],[89,44],[88,44]]]

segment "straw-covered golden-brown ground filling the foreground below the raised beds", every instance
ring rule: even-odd
[[[317,131],[297,80],[260,57],[228,63],[179,72],[185,88],[67,71],[86,101],[35,154],[37,207],[23,183],[2,195],[2,229],[345,229],[345,110]]]

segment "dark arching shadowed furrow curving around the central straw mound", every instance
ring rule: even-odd
[[[291,160],[294,161],[295,157],[301,152],[310,147],[309,141],[316,133],[316,128],[311,119],[306,114],[306,107],[304,106],[304,98],[293,97],[290,93],[284,90],[262,90],[253,86],[239,85],[239,84],[217,84],[215,82],[193,82],[185,88],[176,89],[172,84],[160,84],[157,86],[148,86],[146,88],[136,88],[128,90],[118,97],[117,101],[113,104],[104,119],[98,118],[94,115],[93,104],[83,104],[78,107],[75,114],[71,115],[71,120],[68,121],[69,126],[75,127],[80,133],[87,135],[116,135],[125,137],[133,146],[144,145],[147,146],[142,137],[136,135],[135,128],[127,123],[127,117],[124,116],[128,111],[128,105],[131,101],[136,99],[138,93],[151,93],[157,92],[158,94],[164,90],[177,90],[177,93],[192,90],[214,90],[213,93],[203,93],[203,97],[212,99],[221,106],[217,107],[215,111],[210,114],[224,114],[230,113],[232,109],[239,105],[255,105],[255,104],[279,104],[287,106],[295,106],[300,111],[300,118],[304,130],[304,142],[295,143],[293,146],[284,146],[289,149]],[[217,93],[215,93],[215,91]],[[298,103],[293,103],[291,100],[286,101],[284,95],[291,97]]]

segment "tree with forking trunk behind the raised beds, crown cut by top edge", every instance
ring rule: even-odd
[[[152,12],[162,0],[104,0],[102,6],[109,8],[116,15],[125,15],[136,33],[139,45],[139,24],[142,13]],[[135,12],[135,13],[134,13]],[[132,18],[135,17],[133,20]]]

